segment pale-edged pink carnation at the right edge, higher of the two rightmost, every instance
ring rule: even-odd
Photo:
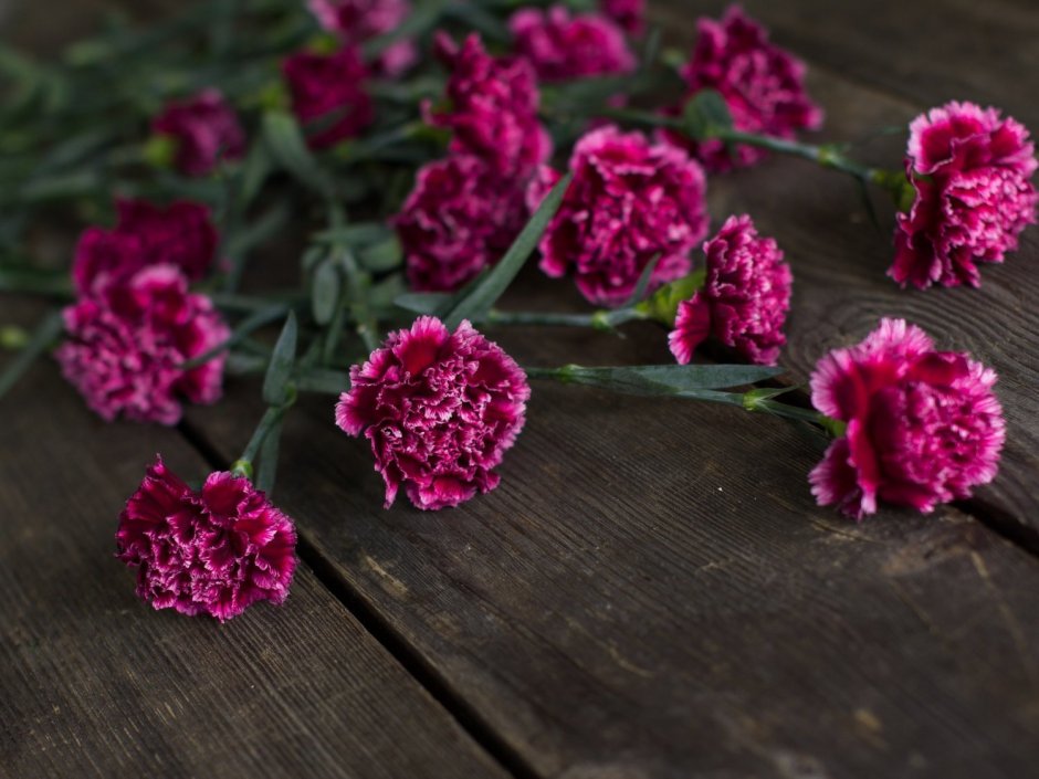
[[[1036,221],[1036,149],[995,108],[948,103],[910,125],[906,173],[916,190],[899,214],[894,264],[905,286],[978,286],[975,262],[1003,262]]]

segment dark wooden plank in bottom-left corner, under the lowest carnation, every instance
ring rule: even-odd
[[[209,470],[176,431],[104,424],[50,361],[2,410],[0,776],[505,776],[305,566],[224,625],[137,600],[123,503],[156,452]]]

